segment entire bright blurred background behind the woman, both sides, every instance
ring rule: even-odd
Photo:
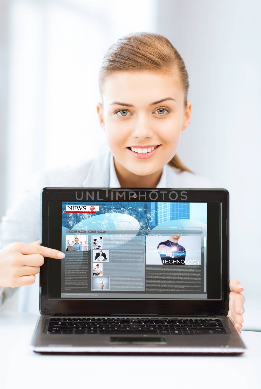
[[[86,155],[94,154],[91,144],[103,137],[97,74],[110,44],[130,32],[161,33],[183,57],[190,78],[192,121],[178,155],[230,192],[230,276],[245,287],[245,324],[261,328],[261,4],[2,0],[1,7],[1,148],[7,158],[0,216],[31,172],[70,162],[65,145],[71,131],[84,140]],[[37,286],[21,288],[19,300],[6,307],[38,311]]]

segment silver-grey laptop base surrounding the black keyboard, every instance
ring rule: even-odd
[[[215,317],[222,320],[227,331],[226,334],[219,335],[49,334],[47,328],[50,318],[51,316],[46,315],[38,318],[31,350],[96,354],[240,354],[246,349],[238,330],[226,316]]]

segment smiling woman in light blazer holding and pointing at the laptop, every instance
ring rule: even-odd
[[[99,145],[103,158],[98,155],[66,170],[38,173],[31,190],[3,218],[0,238],[7,246],[0,252],[0,286],[6,287],[2,301],[13,293],[9,287],[32,284],[44,261],[46,248],[8,246],[17,240],[37,240],[43,187],[100,187],[101,182],[103,187],[213,187],[176,155],[181,132],[191,120],[188,88],[184,61],[165,37],[130,34],[110,47],[99,72],[102,103],[97,104],[97,113],[107,141]],[[21,220],[29,226],[24,232]],[[57,258],[57,252],[52,254]],[[230,280],[230,290],[228,315],[240,330],[244,289]]]

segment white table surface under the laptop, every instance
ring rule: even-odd
[[[29,349],[37,314],[0,311],[0,387],[261,388],[261,332],[241,356],[43,355]]]

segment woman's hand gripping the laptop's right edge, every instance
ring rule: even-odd
[[[232,319],[235,326],[240,331],[242,329],[242,323],[244,323],[243,314],[245,297],[240,292],[244,291],[244,288],[238,280],[230,280],[229,282],[229,310],[228,317]],[[241,332],[241,331],[240,331]]]

